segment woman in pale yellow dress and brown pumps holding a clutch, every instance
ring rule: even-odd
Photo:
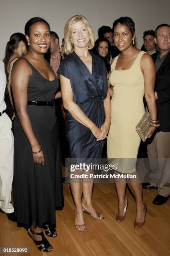
[[[111,100],[111,125],[107,138],[107,157],[121,159],[122,168],[117,171],[128,174],[135,172],[128,166],[127,159],[135,163],[140,137],[135,126],[145,113],[143,96],[148,104],[151,120],[156,120],[156,105],[154,95],[155,66],[149,54],[134,47],[135,24],[129,17],[121,17],[113,23],[114,43],[120,50],[120,55],[112,59],[110,84],[113,86]],[[150,126],[147,138],[150,138],[155,127]],[[115,183],[118,197],[118,212],[116,221],[125,218],[128,199],[125,197],[127,180]],[[128,181],[129,183],[129,181]],[[143,202],[142,184],[130,182],[136,200],[136,218],[134,228],[140,228],[145,223],[147,206]]]

